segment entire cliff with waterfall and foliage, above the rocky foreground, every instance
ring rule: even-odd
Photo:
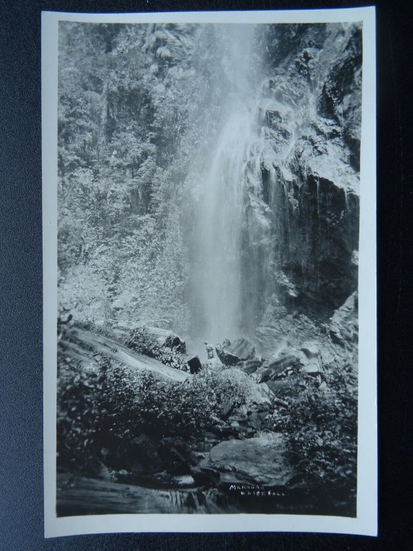
[[[60,39],[59,300],[76,318],[167,319],[203,342],[252,337],[274,297],[311,320],[346,302],[359,25],[67,23]]]

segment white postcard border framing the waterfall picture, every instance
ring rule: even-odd
[[[56,517],[57,63],[59,21],[363,22],[359,239],[357,518],[304,514],[105,514]],[[45,537],[109,532],[326,532],[377,535],[375,9],[77,14],[42,12],[43,424]]]

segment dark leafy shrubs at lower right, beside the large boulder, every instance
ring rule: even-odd
[[[346,370],[327,373],[320,386],[307,379],[297,399],[271,420],[286,434],[302,471],[355,492],[357,386],[349,380]]]

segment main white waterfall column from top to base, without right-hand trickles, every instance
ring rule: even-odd
[[[245,277],[248,266],[252,271],[260,269],[258,259],[251,264],[246,257],[248,248],[262,239],[248,215],[248,205],[262,194],[264,144],[257,125],[261,83],[251,73],[254,29],[230,25],[222,31],[222,63],[229,87],[222,94],[220,134],[200,178],[193,236],[193,330],[212,342],[234,339],[246,325],[251,313]],[[248,278],[256,282],[257,274]]]

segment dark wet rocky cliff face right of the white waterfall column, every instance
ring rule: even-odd
[[[244,228],[245,242],[261,231],[249,241],[253,264],[264,266],[255,311],[275,293],[287,311],[326,319],[357,289],[361,28],[268,36],[275,61],[257,114],[261,191],[250,186]],[[247,263],[246,288],[252,280]]]

